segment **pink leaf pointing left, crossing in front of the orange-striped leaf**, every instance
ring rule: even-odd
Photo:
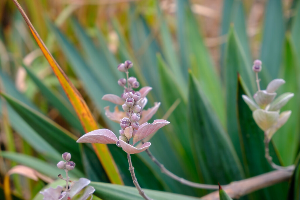
[[[108,129],[93,130],[81,136],[77,142],[82,143],[99,143],[99,144],[116,144],[118,138]]]

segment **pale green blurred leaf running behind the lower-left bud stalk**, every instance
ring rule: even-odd
[[[20,163],[22,165],[31,167],[32,169],[37,170],[38,172],[41,172],[42,174],[46,176],[50,176],[52,178],[57,178],[59,174],[62,174],[64,170],[58,169],[56,165],[49,164],[43,160],[40,160],[38,158],[28,156],[25,154],[18,154],[14,152],[8,152],[8,151],[2,151],[0,155],[8,160],[13,160],[17,163]],[[73,157],[72,157],[73,160]],[[77,166],[77,163],[76,163]],[[84,177],[84,174],[80,172],[76,167],[68,173],[70,178],[80,178]]]

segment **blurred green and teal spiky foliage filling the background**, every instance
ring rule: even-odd
[[[190,181],[228,184],[271,171],[264,158],[263,133],[241,100],[241,94],[252,96],[256,91],[251,66],[254,59],[261,59],[261,87],[274,78],[283,78],[286,84],[279,93],[295,93],[283,108],[292,110],[292,116],[271,145],[274,162],[284,166],[295,162],[300,133],[299,1],[19,3],[96,120],[115,133],[119,125],[109,121],[103,109],[113,105],[101,97],[122,93],[117,80],[123,74],[117,65],[133,61],[130,75],[136,76],[142,87],[153,87],[146,108],[160,101],[155,118],[171,122],[150,140],[150,150],[167,169]],[[108,183],[91,146],[75,143],[84,134],[79,119],[9,0],[0,1],[0,67],[1,92],[7,100],[0,100],[0,199],[4,176],[13,166],[29,166],[55,179],[60,173],[55,165],[65,151],[76,162],[72,178]],[[125,153],[115,145],[109,148],[125,185],[133,186]],[[211,192],[181,185],[162,174],[145,152],[133,155],[132,160],[143,188],[197,197]],[[244,199],[282,200],[288,190],[297,199],[296,176],[299,174],[295,173],[290,188],[277,184]],[[95,194],[100,198],[140,198],[135,189],[96,182]],[[44,180],[19,175],[12,175],[10,183],[15,199],[32,199],[46,185]],[[122,191],[125,197],[115,191]],[[156,199],[187,198],[154,193]]]

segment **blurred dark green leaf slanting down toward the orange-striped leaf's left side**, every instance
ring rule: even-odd
[[[69,102],[67,102],[64,98],[58,96],[58,94],[54,94],[49,88],[44,85],[44,83],[32,73],[24,64],[23,67],[25,68],[27,74],[30,78],[35,82],[35,84],[40,89],[41,93],[45,96],[46,100],[54,106],[58,112],[66,119],[73,127],[77,130],[80,130],[81,133],[84,133],[84,130],[80,124],[79,119],[76,116],[72,106]]]

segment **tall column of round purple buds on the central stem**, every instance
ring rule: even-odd
[[[122,105],[122,108],[125,112],[128,112],[128,118],[123,118],[120,121],[121,130],[119,139],[127,142],[140,127],[140,112],[143,108],[140,105],[141,94],[133,89],[140,87],[140,83],[137,81],[137,78],[134,76],[128,77],[128,69],[133,66],[131,61],[125,61],[124,63],[119,64],[118,70],[125,72],[127,79],[122,78],[118,80],[118,84],[121,87],[124,87],[124,93],[121,95],[122,99],[125,100],[125,103]],[[126,87],[127,84],[127,87]]]

